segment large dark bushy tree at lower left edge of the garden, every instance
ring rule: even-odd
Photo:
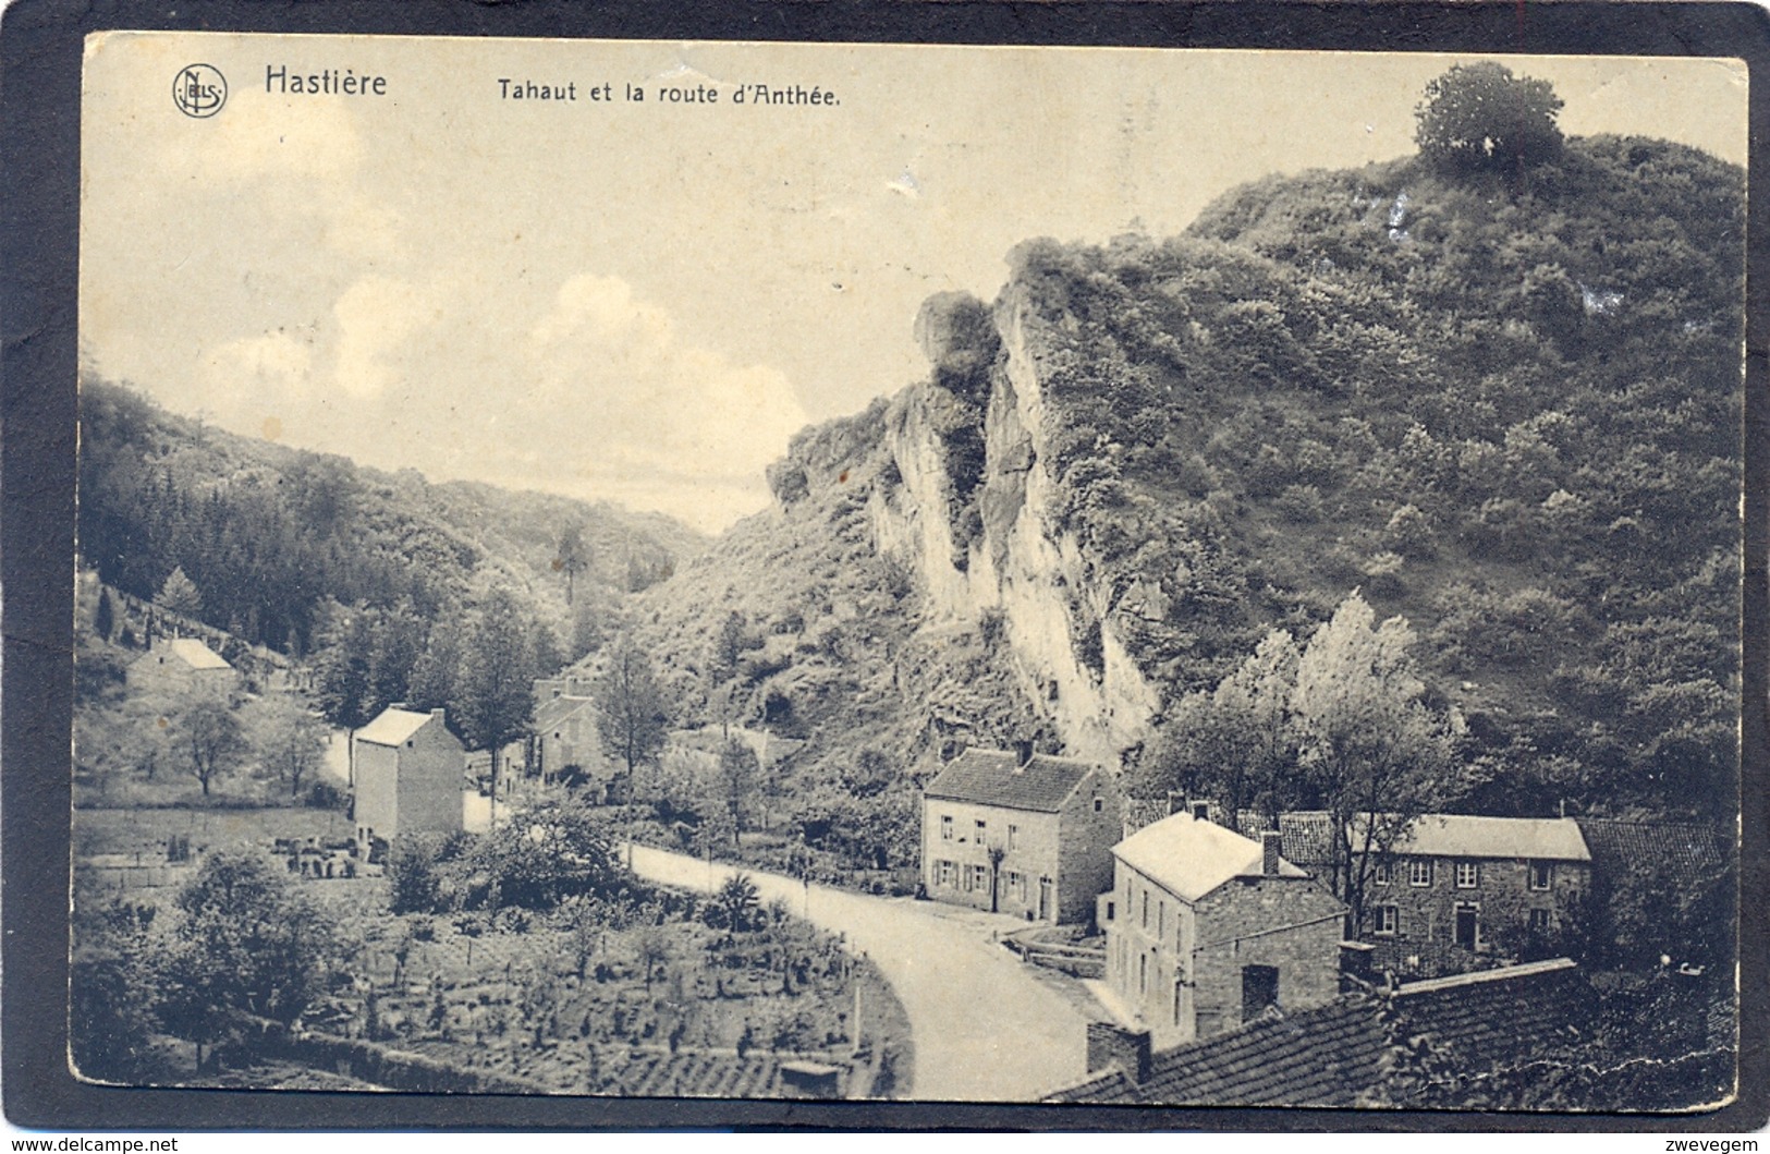
[[[235,1014],[292,1025],[319,996],[335,927],[262,857],[211,853],[177,908],[161,1019],[196,1042],[198,1066]]]

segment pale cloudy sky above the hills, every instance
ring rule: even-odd
[[[719,531],[793,432],[924,375],[927,296],[993,299],[1030,237],[1170,235],[1235,184],[1404,156],[1471,58],[99,34],[81,354],[234,432]],[[172,99],[198,62],[209,117]],[[1745,159],[1740,62],[1506,64],[1568,135]]]

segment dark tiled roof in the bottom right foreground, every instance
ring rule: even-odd
[[[1156,1053],[1138,1085],[1113,1067],[1046,1101],[1143,1106],[1352,1106],[1382,1080],[1389,1030],[1451,1050],[1471,1071],[1512,1062],[1572,1035],[1589,1012],[1591,986],[1566,961],[1464,973],[1358,993],[1260,1019]]]

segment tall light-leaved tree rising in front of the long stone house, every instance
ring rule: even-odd
[[[1297,658],[1290,697],[1304,782],[1329,812],[1333,890],[1354,933],[1377,860],[1439,798],[1457,731],[1421,699],[1407,621],[1374,621],[1356,591],[1340,602]]]

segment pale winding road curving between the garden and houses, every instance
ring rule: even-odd
[[[781,874],[648,846],[632,846],[632,864],[643,878],[703,892],[743,873],[763,901],[788,901],[871,958],[910,1016],[915,1099],[1035,1103],[1087,1073],[1081,1014],[993,940],[1025,922],[908,897],[807,889]]]

